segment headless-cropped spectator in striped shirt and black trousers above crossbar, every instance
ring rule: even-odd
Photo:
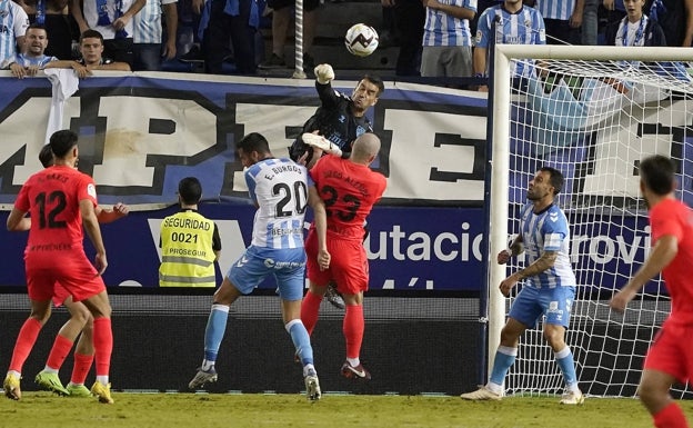
[[[585,0],[536,0],[549,44],[580,44]]]

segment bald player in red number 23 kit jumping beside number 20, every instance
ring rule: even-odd
[[[369,168],[379,151],[378,137],[363,133],[353,142],[349,159],[323,156],[310,170],[328,211],[328,251],[337,257],[332,258],[329,269],[320,269],[315,262],[318,239],[311,228],[305,240],[310,290],[301,305],[301,320],[312,332],[327,286],[335,281],[346,303],[343,329],[346,361],[342,366],[342,375],[346,378],[371,377],[360,361],[364,329],[363,291],[368,290],[369,283],[368,257],[362,241],[365,218],[388,183],[384,176]]]

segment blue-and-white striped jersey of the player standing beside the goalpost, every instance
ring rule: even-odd
[[[536,261],[545,251],[558,252],[553,266],[528,277],[526,283],[535,288],[574,287],[576,281],[570,262],[570,230],[563,211],[553,203],[540,213],[534,213],[533,205],[528,203],[522,209],[520,230],[526,266]]]

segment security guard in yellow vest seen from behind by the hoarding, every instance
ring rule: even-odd
[[[198,212],[202,185],[195,177],[178,183],[181,210],[161,222],[159,287],[214,287],[214,261],[221,252],[219,228]],[[194,237],[194,239],[180,239]]]

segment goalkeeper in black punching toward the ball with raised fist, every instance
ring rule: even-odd
[[[385,90],[382,80],[376,76],[365,74],[356,84],[351,96],[332,89],[334,70],[328,63],[315,67],[315,90],[320,97],[320,107],[303,125],[303,131],[319,133],[328,139],[348,158],[353,141],[365,132],[373,132],[365,112],[375,106]],[[299,136],[289,148],[289,156],[295,162],[309,169],[322,156],[322,150],[311,147]]]

